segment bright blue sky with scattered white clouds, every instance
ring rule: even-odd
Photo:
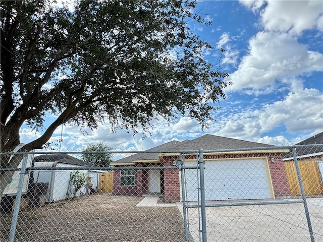
[[[88,130],[63,127],[61,150],[72,151],[104,141],[115,150],[145,150],[171,140],[204,134],[272,145],[292,145],[323,131],[323,2],[199,1],[196,11],[212,25],[188,22],[211,45],[205,59],[219,64],[233,85],[225,89],[216,119],[207,130],[195,120],[178,117],[171,124],[153,120],[151,136],[140,130],[111,132],[109,123]],[[46,124],[55,117],[46,117]],[[45,124],[45,126],[46,126]],[[49,123],[48,123],[49,124]],[[61,137],[59,127],[52,141]],[[23,126],[21,142],[39,137]],[[58,149],[58,146],[54,146]],[[199,147],[197,147],[198,149]]]

